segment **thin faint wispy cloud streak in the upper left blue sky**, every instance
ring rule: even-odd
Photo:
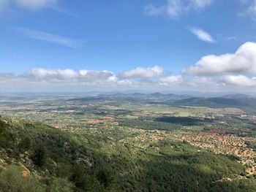
[[[14,27],[14,30],[24,37],[28,37],[31,39],[37,39],[45,42],[55,43],[59,45],[63,45],[71,48],[79,48],[83,44],[84,41],[79,39],[72,39],[69,37],[59,36],[56,34],[50,34],[44,31],[36,31],[29,28],[20,28]]]

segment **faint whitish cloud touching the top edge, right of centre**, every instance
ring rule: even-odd
[[[155,6],[148,4],[145,7],[146,15],[168,15],[170,18],[178,18],[179,16],[192,11],[201,11],[209,7],[214,0],[168,0],[167,4]]]

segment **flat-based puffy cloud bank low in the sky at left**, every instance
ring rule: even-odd
[[[81,69],[43,69],[33,68],[21,75],[0,73],[0,85],[10,82],[18,85],[38,85],[49,88],[72,89],[78,87],[108,88],[134,86],[135,81],[119,80],[113,72]],[[0,86],[1,87],[1,86]],[[26,86],[25,86],[26,87]]]

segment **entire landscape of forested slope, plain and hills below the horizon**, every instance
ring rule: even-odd
[[[245,95],[1,96],[0,185],[254,191],[255,106]]]

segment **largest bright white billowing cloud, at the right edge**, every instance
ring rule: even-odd
[[[246,42],[236,53],[206,55],[193,66],[183,69],[184,73],[195,75],[256,74],[256,43]]]

